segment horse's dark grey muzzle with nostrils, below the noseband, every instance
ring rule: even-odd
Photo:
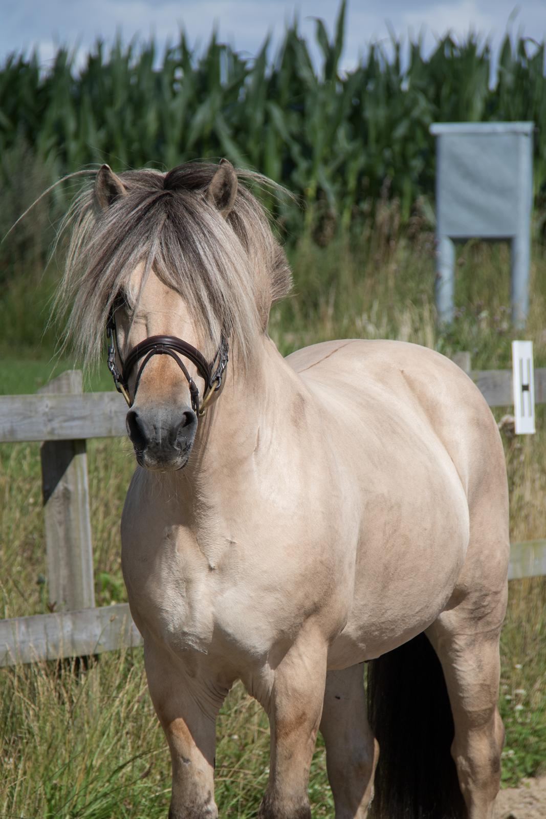
[[[197,431],[192,407],[133,406],[125,423],[139,466],[153,472],[186,466]]]

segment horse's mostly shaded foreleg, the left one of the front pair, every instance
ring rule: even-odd
[[[189,678],[156,647],[145,644],[144,657],[151,699],[171,755],[169,819],[215,819],[216,715],[227,690]]]

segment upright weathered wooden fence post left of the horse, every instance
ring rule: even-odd
[[[67,370],[40,392],[81,393],[82,373]],[[41,459],[50,608],[92,609],[95,591],[85,441],[44,441]]]

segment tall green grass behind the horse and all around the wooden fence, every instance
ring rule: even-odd
[[[476,368],[508,367],[515,337],[508,320],[509,258],[504,247],[472,243],[458,253],[458,318],[435,328],[431,235],[396,238],[396,215],[359,242],[291,249],[295,295],[272,314],[270,331],[284,353],[332,337],[390,337],[449,355],[469,349]],[[394,226],[393,226],[394,225]],[[479,275],[476,275],[479,270]],[[526,337],[546,364],[546,260],[533,254],[533,297]],[[39,296],[39,287],[33,299]],[[39,336],[43,326],[34,328]],[[34,391],[73,364],[33,342],[11,360],[0,337],[2,391]],[[111,388],[110,375],[91,386]],[[504,441],[512,539],[546,535],[546,410],[535,437]],[[95,592],[98,605],[126,600],[120,575],[119,523],[133,472],[128,441],[90,441]],[[39,446],[0,446],[0,617],[47,611]],[[544,771],[546,760],[546,578],[512,581],[502,640],[500,708],[507,727],[503,782]],[[165,819],[169,753],[151,707],[142,650],[104,654],[87,672],[37,663],[0,672],[0,816],[70,819]],[[229,695],[218,727],[217,797],[222,817],[255,815],[268,772],[264,713],[241,686]],[[332,816],[322,745],[310,777],[315,817]]]

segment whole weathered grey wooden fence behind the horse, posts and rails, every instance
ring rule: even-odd
[[[512,372],[471,372],[491,407],[512,404]],[[546,369],[535,370],[535,402],[546,404]],[[95,607],[86,439],[124,436],[127,407],[117,392],[83,393],[78,370],[33,396],[0,397],[0,443],[42,441],[50,614],[0,621],[0,666],[99,654],[142,645],[129,606]],[[546,539],[512,543],[509,577],[546,575]]]

